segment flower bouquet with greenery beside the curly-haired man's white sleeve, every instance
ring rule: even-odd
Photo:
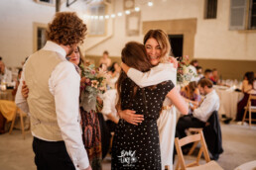
[[[88,112],[96,109],[97,96],[104,93],[106,89],[106,72],[101,68],[95,68],[89,61],[81,69],[80,105]]]

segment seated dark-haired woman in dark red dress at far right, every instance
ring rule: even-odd
[[[242,92],[244,94],[243,99],[237,104],[237,114],[235,121],[242,121],[244,115],[244,107],[247,105],[250,93],[254,88],[254,72],[246,72],[242,83]],[[252,106],[256,106],[256,101],[252,101]]]

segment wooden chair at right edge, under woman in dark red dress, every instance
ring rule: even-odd
[[[252,113],[256,113],[256,106],[252,106],[252,100],[256,100],[256,95],[250,94],[248,98],[248,102],[246,107],[244,107],[243,121],[249,121],[249,126],[251,127],[252,121],[256,121],[256,119],[252,119]],[[249,119],[246,118],[247,112],[249,111]]]

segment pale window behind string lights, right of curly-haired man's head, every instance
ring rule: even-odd
[[[97,18],[90,20],[89,35],[104,35],[105,34],[105,5],[99,4],[90,7],[90,15],[97,16]]]

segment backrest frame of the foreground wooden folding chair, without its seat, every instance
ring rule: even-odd
[[[194,141],[199,141],[200,142],[200,149],[199,149],[198,155],[196,157],[196,160],[194,162],[186,165],[185,160],[184,160],[183,151],[182,151],[182,146],[184,146],[186,144],[189,144],[189,143],[192,143]],[[196,133],[196,134],[188,135],[188,136],[186,136],[184,138],[181,138],[181,139],[176,137],[175,138],[175,145],[176,145],[176,150],[177,150],[177,153],[178,153],[178,166],[177,167],[179,167],[181,165],[181,169],[183,169],[183,170],[186,170],[187,167],[198,166],[202,153],[204,155],[205,161],[206,162],[210,161],[208,150],[207,150],[207,145],[205,143],[203,133],[202,133],[201,130],[199,130],[198,133]]]

